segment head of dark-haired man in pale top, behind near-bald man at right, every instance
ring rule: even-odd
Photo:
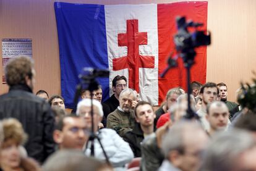
[[[218,94],[219,90],[215,83],[205,83],[200,89],[200,96],[203,102],[202,105],[206,107],[209,102],[216,101]]]

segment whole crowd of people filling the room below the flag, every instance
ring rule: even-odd
[[[190,96],[171,88],[154,110],[117,75],[109,99],[100,87],[83,90],[69,114],[61,95],[33,94],[32,59],[11,60],[5,75],[0,170],[256,170],[255,85],[239,91],[240,106],[225,83],[193,81]]]

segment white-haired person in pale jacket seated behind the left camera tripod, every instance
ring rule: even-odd
[[[130,146],[126,141],[116,133],[116,131],[103,128],[98,130],[98,123],[100,123],[103,117],[103,110],[100,102],[93,99],[93,130],[92,130],[92,101],[91,99],[83,99],[77,104],[77,114],[84,118],[87,128],[94,131],[100,138],[100,141],[108,156],[109,162],[116,170],[125,170],[124,165],[129,163],[134,154],[130,149]],[[85,154],[90,156],[91,144],[87,143]],[[105,161],[106,156],[103,153],[103,149],[100,146],[100,142],[95,139],[94,141],[95,158],[100,161]]]

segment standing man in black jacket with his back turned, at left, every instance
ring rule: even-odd
[[[54,115],[44,99],[32,93],[35,70],[29,57],[18,57],[6,65],[9,93],[0,96],[0,119],[14,117],[28,134],[28,156],[45,161],[54,152]]]

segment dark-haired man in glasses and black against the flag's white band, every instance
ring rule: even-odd
[[[124,76],[117,75],[112,81],[112,89],[114,94],[105,101],[108,104],[110,112],[114,112],[119,106],[119,95],[122,90],[127,88],[127,79]]]

